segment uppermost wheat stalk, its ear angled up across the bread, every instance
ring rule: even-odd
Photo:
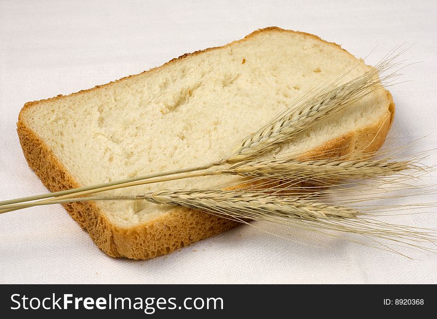
[[[146,176],[140,176],[120,181],[108,182],[93,186],[86,186],[77,189],[52,192],[47,194],[4,200],[0,206],[22,203],[26,201],[38,200],[49,197],[58,197],[59,199],[73,198],[93,192],[112,190],[123,187],[144,185],[169,181],[174,179],[188,178],[199,176],[195,172],[202,172],[215,166],[224,164],[235,164],[241,161],[252,160],[259,155],[269,152],[280,144],[290,141],[303,129],[308,128],[326,117],[338,113],[347,107],[350,107],[364,96],[382,88],[382,82],[389,83],[388,80],[395,77],[396,73],[389,74],[380,78],[380,73],[398,65],[394,60],[398,55],[388,56],[381,63],[371,70],[364,73],[343,85],[337,86],[338,79],[325,89],[310,92],[304,98],[297,100],[289,108],[285,109],[272,121],[254,134],[245,138],[241,145],[230,155],[206,165],[194,168],[186,168],[167,172],[160,172]],[[192,174],[187,174],[192,173]],[[184,175],[185,174],[185,175]],[[177,175],[181,175],[180,177]],[[174,178],[168,178],[174,176]]]

